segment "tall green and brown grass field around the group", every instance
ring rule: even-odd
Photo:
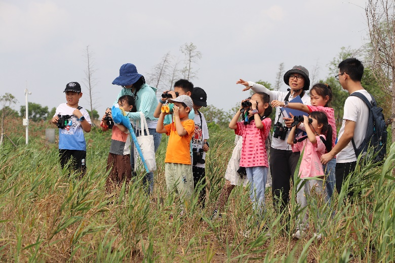
[[[45,128],[54,125],[31,123],[31,141],[25,146],[22,120],[6,123],[6,134],[18,147],[5,139],[0,148],[0,261],[395,261],[395,145],[388,147],[383,165],[357,167],[350,183],[362,193],[355,204],[338,201],[344,192],[335,196],[331,207],[309,199],[310,228],[304,238],[294,240],[299,213],[295,188],[289,231],[274,213],[270,188],[261,225],[268,226],[270,236],[261,227],[251,227],[254,215],[243,187],[233,190],[221,220],[208,220],[233,149],[231,130],[210,133],[207,207],[201,210],[193,199],[185,216],[169,221],[169,214],[178,214],[180,208],[177,198],[166,194],[166,138],[157,152],[153,198],[144,194],[141,180],[109,197],[104,190],[109,132],[93,128],[86,134],[88,172],[78,181],[60,168],[57,144],[45,143]],[[320,241],[313,238],[317,226],[324,236]],[[246,230],[251,230],[248,236]]]

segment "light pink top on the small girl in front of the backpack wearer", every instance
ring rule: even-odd
[[[321,135],[322,137],[325,136]],[[325,144],[321,141],[320,136],[315,136],[317,144],[313,145],[308,138],[293,145],[292,151],[301,152],[303,151],[302,161],[299,167],[299,177],[318,177],[324,176],[324,170],[320,161],[321,155],[325,153]]]

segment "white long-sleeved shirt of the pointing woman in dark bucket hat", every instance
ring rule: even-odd
[[[285,97],[287,97],[288,92],[278,92],[278,91],[270,91],[269,89],[267,89],[264,85],[258,84],[258,83],[254,83],[249,81],[249,84],[251,86],[251,89],[254,92],[264,92],[266,94],[269,95],[269,103],[273,100],[278,100],[278,101],[282,101],[284,102]],[[292,96],[289,97],[289,101],[292,100]],[[310,96],[307,95],[307,91],[305,91],[304,96],[301,98],[302,102],[304,105],[311,105],[310,103]],[[278,118],[279,118],[279,114],[280,114],[280,107],[276,107],[275,108],[275,118],[274,118],[274,124],[277,123]],[[280,120],[281,123],[283,123],[283,125],[285,126],[284,120],[283,120],[283,115],[280,116]],[[289,145],[287,143],[287,138],[289,136],[291,129],[288,129],[288,133],[287,136],[285,137],[285,140],[281,140],[280,137],[279,138],[274,138],[274,133],[273,133],[273,137],[271,140],[271,147],[273,149],[278,149],[278,150],[292,150],[291,145]]]

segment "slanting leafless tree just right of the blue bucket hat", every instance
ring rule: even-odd
[[[171,69],[171,61],[173,56],[170,51],[166,53],[162,61],[153,66],[151,73],[148,74],[149,81],[158,89],[158,91],[166,90],[166,80],[169,79],[169,70]]]

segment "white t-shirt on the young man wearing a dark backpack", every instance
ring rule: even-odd
[[[369,101],[372,100],[372,97],[366,90],[360,90],[356,92],[362,93]],[[357,148],[360,147],[363,140],[365,139],[366,129],[368,127],[368,105],[366,105],[365,102],[358,97],[349,96],[346,99],[344,102],[343,122],[339,131],[338,141],[344,133],[345,120],[352,120],[356,122],[353,138],[355,146]],[[355,156],[355,151],[351,142],[349,142],[347,146],[336,155],[336,157],[336,162],[338,163],[357,161],[357,156]]]

